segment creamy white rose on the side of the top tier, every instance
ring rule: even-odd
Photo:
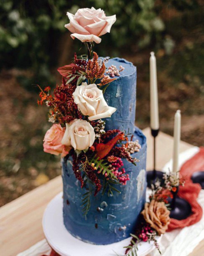
[[[116,108],[109,107],[103,98],[102,90],[96,84],[82,83],[73,92],[74,102],[78,109],[85,116],[89,116],[90,121],[110,117]]]

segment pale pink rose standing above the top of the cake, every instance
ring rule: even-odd
[[[79,9],[75,15],[67,12],[70,23],[65,25],[69,29],[71,37],[82,42],[101,42],[100,36],[109,33],[111,26],[116,21],[116,16],[107,16],[103,10],[95,8]]]

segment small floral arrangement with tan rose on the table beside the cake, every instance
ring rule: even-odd
[[[184,179],[180,179],[175,172],[164,173],[163,179],[162,185],[159,181],[155,182],[155,185],[152,184],[149,201],[145,203],[145,208],[141,212],[141,222],[135,233],[130,234],[132,239],[125,247],[127,256],[137,256],[137,246],[141,241],[152,241],[161,254],[157,237],[165,234],[170,223],[168,198],[173,198],[173,193],[176,193],[178,186],[184,186],[185,183]]]

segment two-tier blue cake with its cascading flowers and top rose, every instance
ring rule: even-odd
[[[106,245],[137,229],[145,204],[146,138],[134,126],[136,67],[121,58],[98,58],[94,42],[116,21],[101,9],[67,13],[71,37],[88,54],[58,69],[62,84],[41,89],[52,127],[44,151],[62,156],[63,219],[68,232]]]

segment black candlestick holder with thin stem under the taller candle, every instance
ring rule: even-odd
[[[159,129],[154,130],[151,129],[152,136],[154,138],[154,145],[153,145],[153,156],[154,156],[154,169],[152,171],[147,172],[147,187],[151,187],[151,184],[155,184],[156,181],[159,181],[161,184],[163,184],[163,172],[156,170],[156,137],[159,133]]]

